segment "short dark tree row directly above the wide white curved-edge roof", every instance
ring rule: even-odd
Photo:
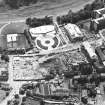
[[[26,24],[30,27],[38,27],[42,25],[50,25],[53,23],[52,17],[45,16],[44,18],[27,18]]]

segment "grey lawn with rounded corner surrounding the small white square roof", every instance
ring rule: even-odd
[[[10,23],[8,24],[2,31],[0,35],[0,47],[7,48],[8,46],[11,46],[12,43],[7,43],[7,34],[17,34],[17,33],[24,33],[24,29],[26,29],[27,26],[24,24],[24,22],[18,22],[18,23]],[[26,40],[26,37],[23,34],[19,34],[17,37],[17,45],[15,47],[18,48],[29,48],[29,44]],[[7,45],[8,44],[8,45]],[[15,44],[15,43],[14,43]]]

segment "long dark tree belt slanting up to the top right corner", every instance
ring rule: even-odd
[[[66,23],[77,23],[81,20],[91,18],[92,11],[95,9],[103,8],[104,4],[100,0],[95,0],[92,4],[87,4],[83,9],[80,9],[78,12],[74,13],[71,10],[66,15],[58,16],[57,22],[58,24],[66,24]]]

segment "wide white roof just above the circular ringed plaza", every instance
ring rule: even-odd
[[[55,33],[54,30],[55,29],[54,29],[53,25],[45,25],[45,26],[40,26],[40,27],[36,27],[36,28],[31,28],[29,30],[29,32],[34,37],[34,36],[37,36],[39,34],[48,33],[48,32]]]

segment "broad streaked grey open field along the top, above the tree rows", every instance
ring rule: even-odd
[[[93,0],[40,0],[37,4],[28,7],[21,7],[18,10],[0,12],[0,21],[24,19],[30,16],[42,17],[45,15],[66,14],[70,9],[77,11]]]

